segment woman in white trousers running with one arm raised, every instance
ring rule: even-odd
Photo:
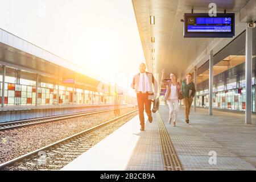
[[[164,70],[162,71],[162,82],[166,85],[166,94],[163,97],[164,101],[170,109],[170,116],[168,123],[171,124],[173,121],[173,126],[176,126],[177,112],[179,110],[179,92],[180,92],[180,82],[177,82],[176,75],[174,73],[170,74],[171,80],[164,80]]]

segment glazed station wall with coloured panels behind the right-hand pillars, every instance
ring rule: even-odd
[[[245,111],[245,31],[214,55],[213,108]],[[253,29],[251,110],[255,113],[256,30]],[[209,107],[209,61],[197,69],[196,101]]]

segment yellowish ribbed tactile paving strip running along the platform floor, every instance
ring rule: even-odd
[[[160,141],[162,145],[164,171],[182,171],[183,167],[159,113],[157,113],[157,119],[159,125]]]

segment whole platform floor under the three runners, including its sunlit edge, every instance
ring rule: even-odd
[[[61,170],[256,170],[256,125],[242,114],[197,109],[187,124],[181,108],[174,127],[162,105],[153,117],[140,131],[137,115]]]

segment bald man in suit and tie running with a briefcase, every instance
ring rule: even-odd
[[[152,89],[154,85],[154,91]],[[148,121],[151,123],[151,100],[155,98],[158,93],[158,83],[156,82],[152,73],[146,72],[146,64],[139,65],[139,73],[133,77],[131,88],[135,89],[137,93],[137,101],[139,107],[139,120],[141,122],[141,130],[144,131],[144,108],[148,116]]]

